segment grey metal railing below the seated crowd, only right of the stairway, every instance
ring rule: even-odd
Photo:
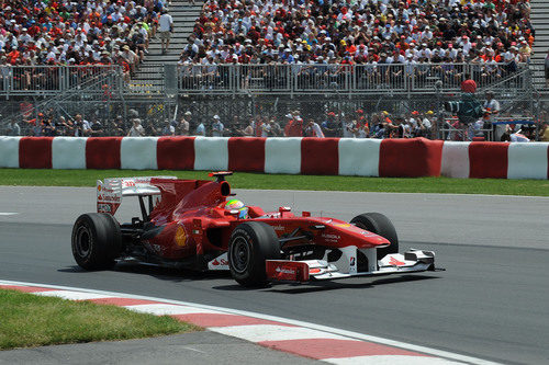
[[[480,89],[502,83],[525,90],[528,71],[526,65],[509,64],[182,65],[178,90],[186,94],[458,92],[466,73]]]

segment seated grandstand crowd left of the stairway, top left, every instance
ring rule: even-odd
[[[0,66],[122,65],[148,53],[167,0],[0,2]]]

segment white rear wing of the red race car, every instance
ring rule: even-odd
[[[98,213],[114,215],[122,204],[124,196],[149,196],[149,205],[153,197],[160,195],[160,190],[150,184],[153,179],[177,179],[176,176],[137,176],[137,178],[111,178],[97,181]],[[139,199],[142,202],[142,199]],[[152,208],[152,207],[150,207]]]

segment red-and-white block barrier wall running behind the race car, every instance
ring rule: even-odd
[[[243,137],[0,137],[0,168],[548,179],[549,144]]]

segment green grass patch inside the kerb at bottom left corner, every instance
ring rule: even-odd
[[[0,289],[0,350],[141,339],[200,330],[171,317]]]

